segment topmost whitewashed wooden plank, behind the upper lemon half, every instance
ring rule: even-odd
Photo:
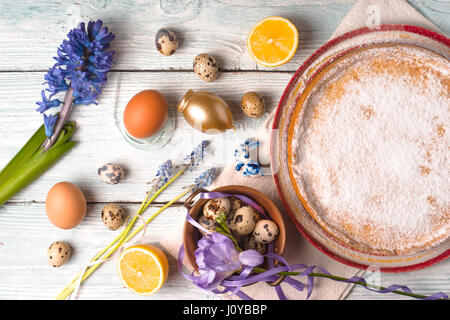
[[[353,0],[297,1],[33,1],[0,3],[0,70],[46,70],[66,33],[79,21],[101,18],[117,38],[115,70],[191,70],[201,52],[223,70],[269,70],[249,56],[247,34],[262,17],[280,15],[299,30],[299,50],[277,70],[295,71],[324,44],[354,5]],[[450,30],[448,1],[412,0],[411,5],[444,32]],[[39,26],[39,28],[36,28]],[[180,49],[161,57],[154,35],[171,27]],[[13,63],[12,63],[13,62]]]

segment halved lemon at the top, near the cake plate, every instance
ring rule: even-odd
[[[259,21],[247,39],[250,55],[266,67],[285,64],[294,56],[298,46],[297,28],[282,17],[268,17]]]

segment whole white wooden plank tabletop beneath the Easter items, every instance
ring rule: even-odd
[[[77,122],[73,140],[77,146],[28,188],[0,207],[0,299],[52,299],[72,279],[115,232],[100,219],[106,203],[124,206],[133,214],[145,193],[156,167],[170,158],[179,160],[205,136],[191,129],[176,115],[176,130],[169,145],[158,151],[140,151],[129,146],[115,123],[127,101],[143,89],[156,89],[175,110],[188,89],[207,90],[227,100],[237,130],[214,136],[214,152],[209,166],[223,166],[232,160],[232,150],[252,136],[262,120],[247,118],[239,101],[247,91],[259,92],[268,111],[273,110],[289,79],[301,63],[320,45],[355,1],[131,1],[78,0],[32,1],[2,0],[0,3],[0,167],[3,167],[41,124],[34,112],[40,99],[43,77],[53,64],[56,48],[69,29],[79,21],[102,19],[116,34],[116,59],[99,105],[79,106],[71,114]],[[448,1],[410,3],[444,32],[450,31]],[[246,49],[250,27],[261,18],[280,15],[289,18],[300,32],[297,54],[287,64],[268,69],[255,64]],[[171,57],[161,56],[154,46],[160,27],[172,28],[180,38],[180,49]],[[201,52],[214,55],[220,77],[207,84],[192,72],[193,58]],[[173,113],[175,115],[175,112]],[[96,175],[104,162],[124,165],[126,179],[115,186],[106,185]],[[205,169],[204,166],[202,169]],[[200,170],[184,175],[161,195],[149,211],[170,200],[189,184]],[[54,227],[45,213],[45,197],[59,181],[77,184],[88,200],[86,219],[75,229]],[[145,241],[159,243],[185,216],[181,204],[165,211],[148,228]],[[65,240],[73,256],[61,268],[46,261],[46,249],[56,240]],[[404,274],[383,274],[381,283],[408,285],[413,291],[431,294],[450,293],[450,261],[426,270]],[[81,299],[144,299],[124,288],[115,263],[99,268],[82,287]],[[394,299],[356,287],[348,299]],[[145,299],[215,299],[186,281],[170,258],[166,285]]]

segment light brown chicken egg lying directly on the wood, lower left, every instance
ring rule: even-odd
[[[48,192],[45,208],[51,223],[61,229],[72,229],[86,215],[86,198],[73,183],[59,182]]]

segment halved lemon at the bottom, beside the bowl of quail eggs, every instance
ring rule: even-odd
[[[159,248],[140,244],[120,254],[118,269],[120,280],[128,289],[146,296],[162,287],[169,273],[169,263]]]

